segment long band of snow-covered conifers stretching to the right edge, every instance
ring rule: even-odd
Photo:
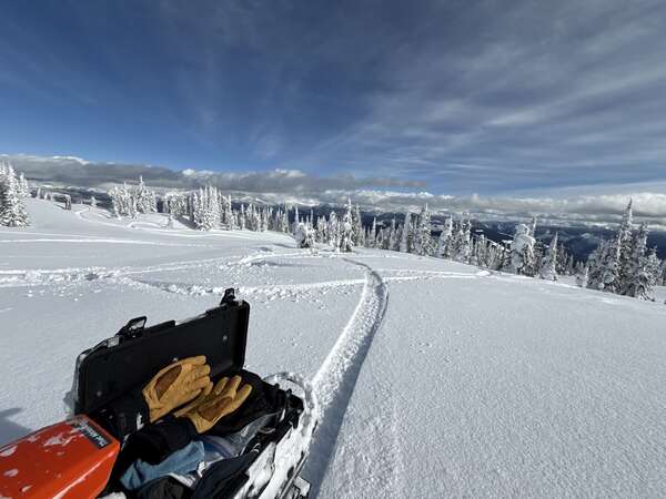
[[[157,195],[140,179],[135,187],[113,187],[111,196],[117,216],[135,216],[157,211]],[[616,236],[603,241],[586,263],[574,262],[554,234],[548,244],[535,237],[536,218],[516,225],[511,242],[496,243],[483,234],[473,233],[468,217],[448,217],[437,238],[432,235],[427,205],[417,214],[408,211],[402,223],[363,226],[359,205],[351,200],[341,213],[314,217],[302,216],[297,206],[290,222],[286,206],[255,206],[253,203],[234,207],[231,196],[216,187],[206,186],[190,193],[172,192],[162,196],[162,211],[189,220],[196,228],[210,231],[250,230],[291,233],[301,247],[325,244],[339,252],[354,247],[380,248],[420,256],[447,258],[481,267],[556,281],[561,275],[576,275],[582,287],[602,289],[643,299],[653,299],[653,288],[664,283],[666,263],[659,261],[655,248],[647,248],[648,228],[633,225],[632,203],[627,206]]]

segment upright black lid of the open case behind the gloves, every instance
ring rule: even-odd
[[[74,373],[77,414],[104,408],[179,359],[205,355],[211,376],[241,369],[245,364],[246,302],[235,302],[232,296],[232,301],[180,324],[171,320],[143,328],[144,319],[130,320],[115,337],[79,356]]]

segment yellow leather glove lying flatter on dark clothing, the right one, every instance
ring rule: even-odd
[[[231,380],[228,377],[220,379],[215,388],[199,405],[186,413],[179,411],[176,416],[189,418],[199,434],[210,430],[215,422],[241,407],[250,396],[252,386],[240,387],[241,381],[240,376],[234,376]]]

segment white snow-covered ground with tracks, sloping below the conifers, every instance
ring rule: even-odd
[[[79,352],[240,287],[248,366],[310,378],[322,498],[666,496],[666,306],[283,234],[29,200],[0,228],[0,444],[64,415]],[[2,471],[0,469],[0,471]]]

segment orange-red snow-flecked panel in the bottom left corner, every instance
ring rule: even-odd
[[[0,447],[0,497],[92,499],[104,489],[120,442],[85,416]]]

